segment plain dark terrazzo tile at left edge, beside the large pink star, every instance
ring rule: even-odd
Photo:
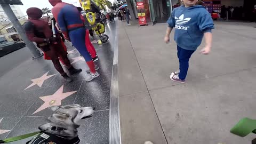
[[[17,117],[26,114],[44,89],[19,94],[6,94],[0,97],[0,117]]]

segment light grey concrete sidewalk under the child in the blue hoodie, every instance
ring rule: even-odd
[[[256,119],[255,23],[215,22],[210,55],[191,60],[186,84],[172,82],[177,46],[165,44],[166,24],[119,26],[119,107],[122,143],[246,144],[229,132]]]

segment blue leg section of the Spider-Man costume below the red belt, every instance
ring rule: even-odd
[[[69,38],[72,44],[76,47],[76,49],[81,53],[86,62],[91,61],[91,55],[87,51],[87,47],[85,46],[85,28],[78,28],[76,30],[72,30],[69,32]]]

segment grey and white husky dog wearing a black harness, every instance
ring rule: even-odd
[[[89,118],[94,113],[93,107],[79,105],[52,106],[54,113],[47,118],[48,123],[39,126],[43,132],[34,137],[28,144],[71,144],[79,143],[77,128],[81,119]]]

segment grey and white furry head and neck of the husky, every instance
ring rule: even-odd
[[[79,105],[52,106],[50,109],[54,113],[47,118],[48,123],[39,126],[39,129],[44,131],[45,134],[64,138],[67,141],[74,138],[78,139],[77,128],[79,127],[79,122],[81,119],[91,117],[94,113],[93,107],[81,107]]]

